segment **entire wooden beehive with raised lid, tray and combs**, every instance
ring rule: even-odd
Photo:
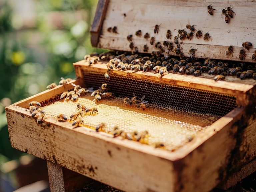
[[[251,16],[255,16],[256,4],[253,1],[212,4],[217,9],[213,16],[207,13],[209,2],[99,0],[91,42],[95,47],[130,51],[127,35],[141,29],[143,35],[149,32],[152,36],[154,25],[161,24],[156,41],[163,42],[167,29],[175,36],[189,18],[191,24],[197,25],[196,29],[209,31],[213,40],[184,40],[181,46],[185,55],[190,48],[197,48],[196,57],[237,61],[245,41],[253,43],[252,54],[256,45],[253,33],[256,21]],[[236,13],[229,24],[218,11],[227,6],[234,7]],[[107,31],[113,26],[117,26],[118,34]],[[133,36],[139,52],[143,52],[143,45],[149,45],[149,40]],[[229,45],[234,45],[235,50],[225,57]],[[152,50],[154,46],[148,51]],[[249,56],[245,61],[255,62]],[[151,71],[133,73],[129,70],[114,70],[111,78],[104,80],[107,71],[104,61],[90,65],[82,60],[74,63],[74,67],[77,79],[66,86],[59,85],[6,107],[14,148],[124,191],[206,192],[216,185],[228,188],[255,171],[255,80],[230,76],[215,82],[210,75],[194,77],[174,73],[159,78]],[[142,112],[126,107],[117,97],[102,100],[97,105],[99,114],[88,118],[86,127],[73,129],[69,122],[56,120],[57,113],[70,113],[71,108],[75,109],[76,103],[59,102],[60,94],[73,88],[71,83],[98,88],[103,82],[109,84],[118,97],[131,97],[133,92],[145,94],[157,107]],[[92,99],[85,96],[79,102],[94,106]],[[31,101],[39,101],[45,108],[48,118],[40,125],[30,117],[28,103]],[[126,121],[128,117],[134,121]],[[148,121],[141,122],[147,118]],[[175,150],[171,151],[95,132],[91,128],[99,122],[127,124],[126,129],[140,129],[150,124],[148,129],[153,136],[163,134],[158,125],[174,123],[180,129],[187,125],[195,127],[191,128],[192,132],[170,127],[173,133],[165,134],[168,135],[166,142],[173,142],[171,146]],[[183,137],[191,133],[192,141]]]

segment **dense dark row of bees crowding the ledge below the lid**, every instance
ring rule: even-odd
[[[246,48],[246,45],[244,45]],[[191,51],[193,54],[195,50]],[[200,76],[202,73],[209,75],[217,75],[214,80],[224,80],[225,76],[237,76],[240,79],[254,78],[256,79],[255,64],[248,64],[244,62],[223,62],[214,59],[196,59],[178,57],[170,58],[170,55],[154,55],[151,54],[132,54],[131,52],[110,51],[99,55],[102,60],[107,61],[108,71],[113,70],[132,70],[134,72],[143,71],[148,72],[153,70],[154,73],[159,73],[160,76],[168,74],[169,72]],[[106,78],[109,79],[109,72]],[[128,101],[128,100],[127,100]]]

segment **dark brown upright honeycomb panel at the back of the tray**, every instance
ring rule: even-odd
[[[87,87],[98,89],[102,83],[107,83],[116,96],[131,98],[132,93],[146,95],[149,103],[163,108],[224,116],[236,107],[234,95],[117,74],[111,74],[107,80],[103,73],[95,71],[83,71],[83,78]]]

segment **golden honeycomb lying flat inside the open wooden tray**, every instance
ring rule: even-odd
[[[56,118],[58,114],[64,113],[68,117],[77,112],[77,103],[85,105],[89,108],[96,107],[99,111],[96,115],[85,115],[81,119],[84,120],[86,126],[95,127],[100,123],[106,124],[106,132],[112,130],[114,126],[118,126],[121,130],[132,133],[133,131],[142,132],[147,130],[150,134],[149,144],[164,143],[166,149],[175,150],[185,143],[191,141],[196,134],[203,132],[207,126],[200,126],[188,122],[182,122],[175,119],[173,114],[177,110],[163,110],[151,105],[150,108],[142,112],[134,107],[126,107],[122,98],[109,98],[102,100],[96,104],[92,101],[93,97],[84,96],[79,98],[78,102],[72,101],[56,101],[44,108],[47,117]],[[157,115],[155,115],[157,114]],[[176,116],[182,116],[180,113]],[[196,119],[198,114],[183,114],[183,119],[189,115],[190,119]],[[193,118],[191,118],[193,117]],[[199,119],[202,119],[203,116]],[[216,121],[217,117],[208,115],[206,122],[208,124]],[[198,121],[199,122],[199,121]]]

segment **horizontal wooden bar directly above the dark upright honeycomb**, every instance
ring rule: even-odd
[[[90,70],[102,72],[103,74],[107,71],[105,64],[97,63],[89,66],[89,63],[85,60],[78,61],[74,63],[75,68],[77,69],[78,77],[83,76],[81,70]],[[131,70],[121,71],[114,70],[116,74],[129,77],[137,77],[141,79],[148,79],[160,82],[167,82],[170,84],[181,85],[190,88],[197,88],[206,91],[214,91],[218,93],[231,94],[236,96],[238,106],[246,106],[250,102],[249,95],[253,91],[253,87],[256,84],[256,81],[253,79],[248,79],[247,81],[240,80],[239,83],[228,82],[228,81],[214,81],[213,79],[195,77],[193,75],[182,75],[169,73],[160,78],[159,74],[154,74],[152,72],[144,73],[143,71],[134,72]],[[210,76],[210,75],[209,75]],[[214,75],[212,75],[214,76]],[[236,77],[230,77],[231,81],[237,79]],[[243,82],[249,83],[244,84]]]

